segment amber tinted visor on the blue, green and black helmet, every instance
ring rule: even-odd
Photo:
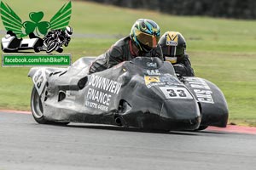
[[[154,35],[149,35],[144,32],[140,32],[137,35],[137,40],[143,45],[148,46],[148,48],[156,48],[157,42],[159,41],[160,37],[156,37]]]

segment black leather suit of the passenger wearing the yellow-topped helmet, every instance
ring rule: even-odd
[[[177,76],[180,77],[195,77],[193,68],[191,67],[188,54],[184,54],[183,59],[173,64]]]

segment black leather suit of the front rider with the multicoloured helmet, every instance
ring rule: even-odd
[[[124,37],[115,42],[105,54],[102,54],[96,58],[96,60],[90,65],[89,74],[104,71],[113,67],[113,65],[118,65],[123,61],[131,60],[137,56],[159,57],[160,59],[164,60],[162,50],[159,45],[148,53],[134,54],[132,51],[131,38]]]

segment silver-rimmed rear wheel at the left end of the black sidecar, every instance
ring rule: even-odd
[[[42,101],[35,88],[33,89],[32,94],[32,114],[36,118],[41,118],[42,116],[44,116]]]

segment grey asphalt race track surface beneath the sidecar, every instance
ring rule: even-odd
[[[256,169],[256,131],[212,127],[200,133],[149,133],[81,123],[60,127],[40,125],[24,113],[0,111],[0,170]]]

